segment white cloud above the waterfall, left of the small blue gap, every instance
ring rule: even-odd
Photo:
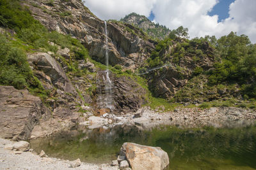
[[[148,17],[156,1],[157,0],[86,0],[84,4],[102,20],[119,20],[132,12]]]

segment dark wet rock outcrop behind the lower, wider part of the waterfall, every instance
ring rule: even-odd
[[[146,102],[146,90],[128,76],[118,76],[109,71],[111,85],[106,89],[106,71],[98,71],[96,110],[103,115],[108,109],[114,113],[138,110]],[[108,108],[111,106],[111,108]],[[103,111],[103,112],[102,112]]]

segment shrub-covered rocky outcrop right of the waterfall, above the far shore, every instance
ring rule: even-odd
[[[171,43],[173,45],[157,52],[161,56],[161,63],[164,63],[163,67],[149,68],[150,71],[145,74],[155,97],[171,99],[196,76],[196,68],[202,69],[202,72],[208,71],[214,63],[214,49],[207,42],[186,44],[184,39],[177,38]]]

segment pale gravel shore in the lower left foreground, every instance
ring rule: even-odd
[[[60,160],[56,158],[41,158],[33,152],[19,152],[6,150],[4,145],[12,144],[12,141],[0,138],[0,169],[88,169],[88,170],[116,170],[118,167],[111,167],[108,164],[88,164],[81,163],[79,167],[68,167],[69,160]]]

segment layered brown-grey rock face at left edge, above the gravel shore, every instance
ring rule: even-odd
[[[28,139],[39,119],[51,114],[39,97],[11,86],[0,86],[0,108],[0,136],[14,140]]]

